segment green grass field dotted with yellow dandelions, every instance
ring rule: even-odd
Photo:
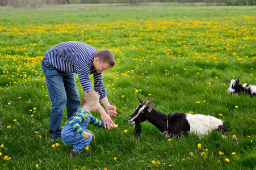
[[[233,76],[256,84],[255,11],[174,3],[0,7],[1,169],[255,169],[256,98],[226,92]],[[63,41],[110,49],[116,59],[103,81],[119,127],[89,125],[95,136],[77,159],[68,157],[72,146],[48,135],[51,101],[41,59]],[[128,117],[137,97],[148,95],[166,114],[220,118],[228,136],[169,140],[143,122],[135,138]]]

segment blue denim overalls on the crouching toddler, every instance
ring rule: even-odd
[[[83,138],[81,134],[77,133],[77,131],[75,131],[72,128],[72,125],[69,124],[68,122],[69,120],[66,122],[64,128],[62,129],[62,133],[61,133],[62,141],[67,145],[73,145],[74,151],[79,151],[81,153],[85,150],[85,147],[90,144],[92,139],[90,131],[85,129],[90,122],[90,116],[88,115],[86,120],[80,124],[82,129],[90,134],[90,137],[87,139]]]

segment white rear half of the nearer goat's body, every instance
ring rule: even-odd
[[[205,116],[204,114],[188,114],[187,121],[190,124],[190,132],[196,134],[208,134],[213,129],[218,129],[218,126],[223,125],[223,122],[213,116]]]

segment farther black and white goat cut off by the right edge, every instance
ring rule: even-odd
[[[240,75],[241,76],[241,75]],[[238,78],[232,80],[226,79],[227,82],[229,82],[229,88],[228,88],[228,93],[240,93],[240,92],[245,92],[246,94],[250,96],[255,96],[256,95],[256,86],[255,85],[249,85],[249,84],[240,84],[240,76]]]

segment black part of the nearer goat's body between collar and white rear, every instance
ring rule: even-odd
[[[190,124],[185,113],[168,114],[168,133],[174,135],[186,135],[190,131]]]

